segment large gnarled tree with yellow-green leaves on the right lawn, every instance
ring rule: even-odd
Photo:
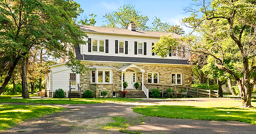
[[[251,94],[256,83],[256,5],[253,1],[195,1],[186,7],[190,17],[182,19],[187,27],[203,35],[205,43],[187,38],[180,44],[174,39],[160,39],[165,48],[198,53],[214,58],[214,66],[228,73],[237,82],[242,106],[251,106]],[[165,41],[163,41],[165,40]],[[173,44],[166,41],[171,40]],[[162,46],[162,45],[161,45]],[[154,47],[156,48],[156,47]],[[157,50],[157,49],[156,49]],[[164,48],[160,54],[169,52]],[[155,51],[157,52],[157,51]],[[165,54],[165,55],[164,55]],[[161,55],[162,56],[162,55]]]

